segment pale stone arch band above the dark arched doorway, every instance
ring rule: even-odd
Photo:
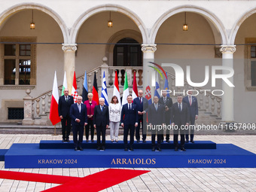
[[[78,37],[79,29],[81,28],[85,20],[87,20],[89,17],[93,16],[94,14],[98,14],[102,11],[116,11],[126,15],[127,17],[130,17],[130,19],[133,20],[134,23],[136,23],[136,26],[138,26],[139,31],[142,33],[142,41],[147,42],[148,32],[145,27],[145,24],[133,11],[130,11],[129,9],[124,8],[123,6],[120,6],[120,5],[99,5],[84,12],[84,14],[82,14],[78,18],[78,20],[75,21],[72,27],[72,31],[70,33],[71,34],[70,41],[71,42],[76,41]]]

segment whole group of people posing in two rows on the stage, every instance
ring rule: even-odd
[[[93,101],[93,93],[88,93],[88,100],[82,103],[82,97],[78,96],[74,103],[69,90],[64,90],[64,95],[59,97],[59,118],[62,123],[62,142],[70,142],[69,135],[73,131],[73,141],[75,151],[83,151],[84,126],[86,142],[94,142],[94,130],[97,134],[97,150],[105,150],[105,133],[110,128],[111,142],[118,142],[119,126],[123,127],[124,151],[133,151],[134,135],[136,142],[140,142],[140,130],[142,130],[142,142],[146,142],[147,125],[178,126],[178,130],[173,131],[173,142],[175,151],[178,151],[178,133],[181,136],[181,151],[186,151],[184,143],[189,142],[189,130],[180,129],[181,125],[194,124],[198,117],[197,98],[192,95],[192,91],[187,92],[187,96],[177,96],[177,102],[172,104],[172,98],[166,96],[165,90],[160,99],[154,96],[153,103],[148,105],[148,99],[143,97],[143,91],[138,91],[139,96],[133,99],[127,96],[127,103],[121,105],[117,96],[111,98],[109,106],[105,105],[105,99],[99,98],[99,105]],[[124,99],[124,98],[123,98]],[[152,151],[162,151],[160,148],[163,142],[163,131],[151,130]],[[90,134],[89,134],[90,132]],[[130,135],[130,145],[128,146],[128,135]],[[157,145],[156,142],[157,135]],[[166,130],[166,142],[169,143],[170,130]],[[79,138],[78,138],[79,136]],[[101,139],[102,138],[102,139]],[[194,130],[190,130],[190,142],[194,143]]]

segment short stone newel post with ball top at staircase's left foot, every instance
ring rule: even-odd
[[[23,98],[24,100],[24,119],[22,121],[23,125],[32,125],[34,123],[32,119],[32,96],[29,94],[31,90],[26,90],[26,96]]]

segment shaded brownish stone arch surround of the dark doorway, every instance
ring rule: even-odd
[[[113,62],[113,50],[114,45],[122,38],[133,38],[142,44],[142,35],[134,30],[126,29],[114,33],[108,40],[108,44],[105,47],[105,56],[108,58],[108,64]]]

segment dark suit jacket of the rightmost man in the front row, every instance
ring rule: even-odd
[[[171,108],[171,121],[175,125],[185,125],[190,122],[189,108],[187,104],[182,102],[182,110],[179,111],[178,102],[175,102]]]

